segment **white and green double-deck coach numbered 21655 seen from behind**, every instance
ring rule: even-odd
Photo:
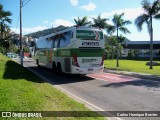
[[[38,66],[70,74],[102,72],[104,35],[99,28],[70,27],[36,42]]]

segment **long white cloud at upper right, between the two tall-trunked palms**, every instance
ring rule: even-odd
[[[103,18],[113,17],[114,14],[121,14],[124,13],[125,19],[134,20],[136,17],[144,13],[141,8],[125,8],[125,9],[118,9],[111,12],[104,12],[102,13]]]

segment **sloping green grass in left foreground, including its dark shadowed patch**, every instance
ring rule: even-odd
[[[69,98],[67,95],[54,88],[51,84],[43,82],[39,77],[34,75],[26,68],[22,67],[18,63],[0,55],[0,111],[91,110],[86,108],[85,105],[80,104],[75,100]],[[92,112],[91,114],[97,113]],[[25,120],[27,118],[23,119]],[[53,120],[53,118],[43,119]],[[72,120],[75,118],[56,117],[54,119]],[[101,120],[104,119],[104,117],[80,117],[76,119]]]

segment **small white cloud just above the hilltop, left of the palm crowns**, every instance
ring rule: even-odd
[[[74,24],[68,20],[64,20],[64,19],[56,19],[55,21],[53,21],[53,23],[51,23],[51,25],[53,27],[58,27],[60,25],[63,26],[73,26]]]

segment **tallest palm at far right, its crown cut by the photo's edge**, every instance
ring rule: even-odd
[[[135,20],[135,25],[139,31],[142,31],[144,23],[147,24],[149,36],[150,36],[150,69],[153,69],[153,19],[160,19],[160,1],[156,0],[151,3],[149,0],[143,0],[141,2],[142,8],[145,11],[142,15],[138,16]]]

